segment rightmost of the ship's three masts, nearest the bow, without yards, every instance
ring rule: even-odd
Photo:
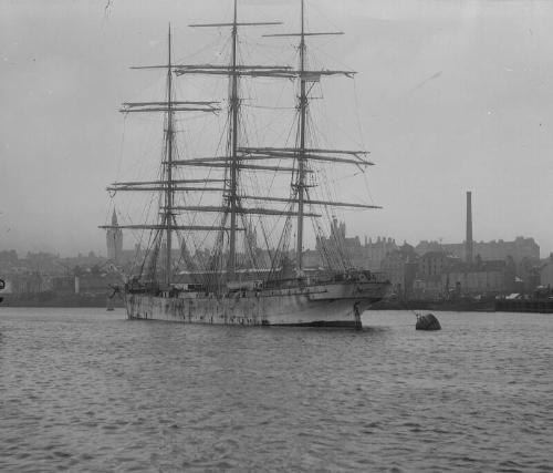
[[[303,266],[303,197],[305,187],[305,121],[307,117],[307,95],[305,92],[305,31],[303,17],[303,0],[302,0],[302,29],[300,33],[300,150],[298,154],[298,240],[295,244],[296,251],[296,270],[301,271]]]

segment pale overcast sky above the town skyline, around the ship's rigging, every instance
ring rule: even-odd
[[[243,20],[298,28],[295,0],[239,6]],[[462,241],[472,191],[474,239],[532,236],[542,256],[553,251],[553,2],[311,0],[306,10],[311,30],[346,33],[314,51],[358,71],[345,95],[357,111],[340,123],[377,164],[368,183],[384,209],[344,214],[348,234]],[[97,225],[128,128],[117,109],[147,89],[128,66],[163,60],[169,21],[178,56],[205,50],[196,58],[216,62],[210,41],[225,32],[187,24],[230,13],[231,0],[0,1],[0,249],[105,254]]]

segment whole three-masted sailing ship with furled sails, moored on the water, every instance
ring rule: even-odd
[[[338,235],[323,237],[321,222],[324,217],[332,220],[337,208],[379,208],[324,199],[315,191],[321,185],[317,182],[321,166],[355,166],[356,172],[365,172],[373,165],[364,151],[317,147],[310,132],[313,85],[325,76],[352,76],[354,72],[310,68],[306,40],[342,32],[305,31],[301,0],[299,32],[263,34],[299,40],[298,66],[242,63],[239,60],[239,30],[273,24],[280,23],[238,21],[234,0],[231,22],[190,25],[230,29],[229,63],[174,63],[169,25],[167,63],[133,68],[165,70],[166,96],[163,101],[126,102],[121,110],[125,114],[152,112],[164,115],[164,150],[158,179],[116,182],[107,187],[112,195],[132,191],[157,193],[159,197],[156,222],[117,225],[117,228],[149,235],[148,247],[140,255],[136,274],[127,278],[123,289],[129,319],[361,328],[362,312],[383,299],[388,290],[389,282],[382,275],[352,265],[341,247],[343,241]],[[177,151],[178,114],[212,114],[222,110],[218,101],[182,101],[175,96],[178,78],[194,74],[228,80],[223,155],[181,156]],[[241,84],[260,78],[294,83],[296,120],[292,144],[249,145],[247,123],[242,117]],[[260,176],[265,176],[265,181],[255,181]],[[272,184],[278,179],[281,183],[284,179],[285,195],[274,195],[274,188],[279,187]],[[207,222],[209,216],[211,220]],[[267,220],[270,218],[276,218],[279,225],[269,227]],[[309,268],[304,260],[305,223],[309,220],[313,223],[317,250],[324,261],[316,268]],[[291,249],[294,229],[295,248]],[[257,244],[258,232],[263,235],[264,249]],[[180,246],[174,249],[175,236]],[[202,250],[198,249],[201,244],[206,245]]]

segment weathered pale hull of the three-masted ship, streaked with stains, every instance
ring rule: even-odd
[[[294,289],[178,296],[125,294],[129,319],[240,326],[359,327],[361,313],[380,300],[386,284],[333,284]]]

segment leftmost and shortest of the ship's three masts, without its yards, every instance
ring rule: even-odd
[[[168,61],[167,61],[167,163],[166,175],[167,186],[165,192],[165,232],[167,255],[165,260],[165,282],[169,286],[171,281],[171,225],[173,225],[173,144],[174,144],[174,130],[173,130],[173,71],[171,71],[171,25],[169,23],[168,34]]]

